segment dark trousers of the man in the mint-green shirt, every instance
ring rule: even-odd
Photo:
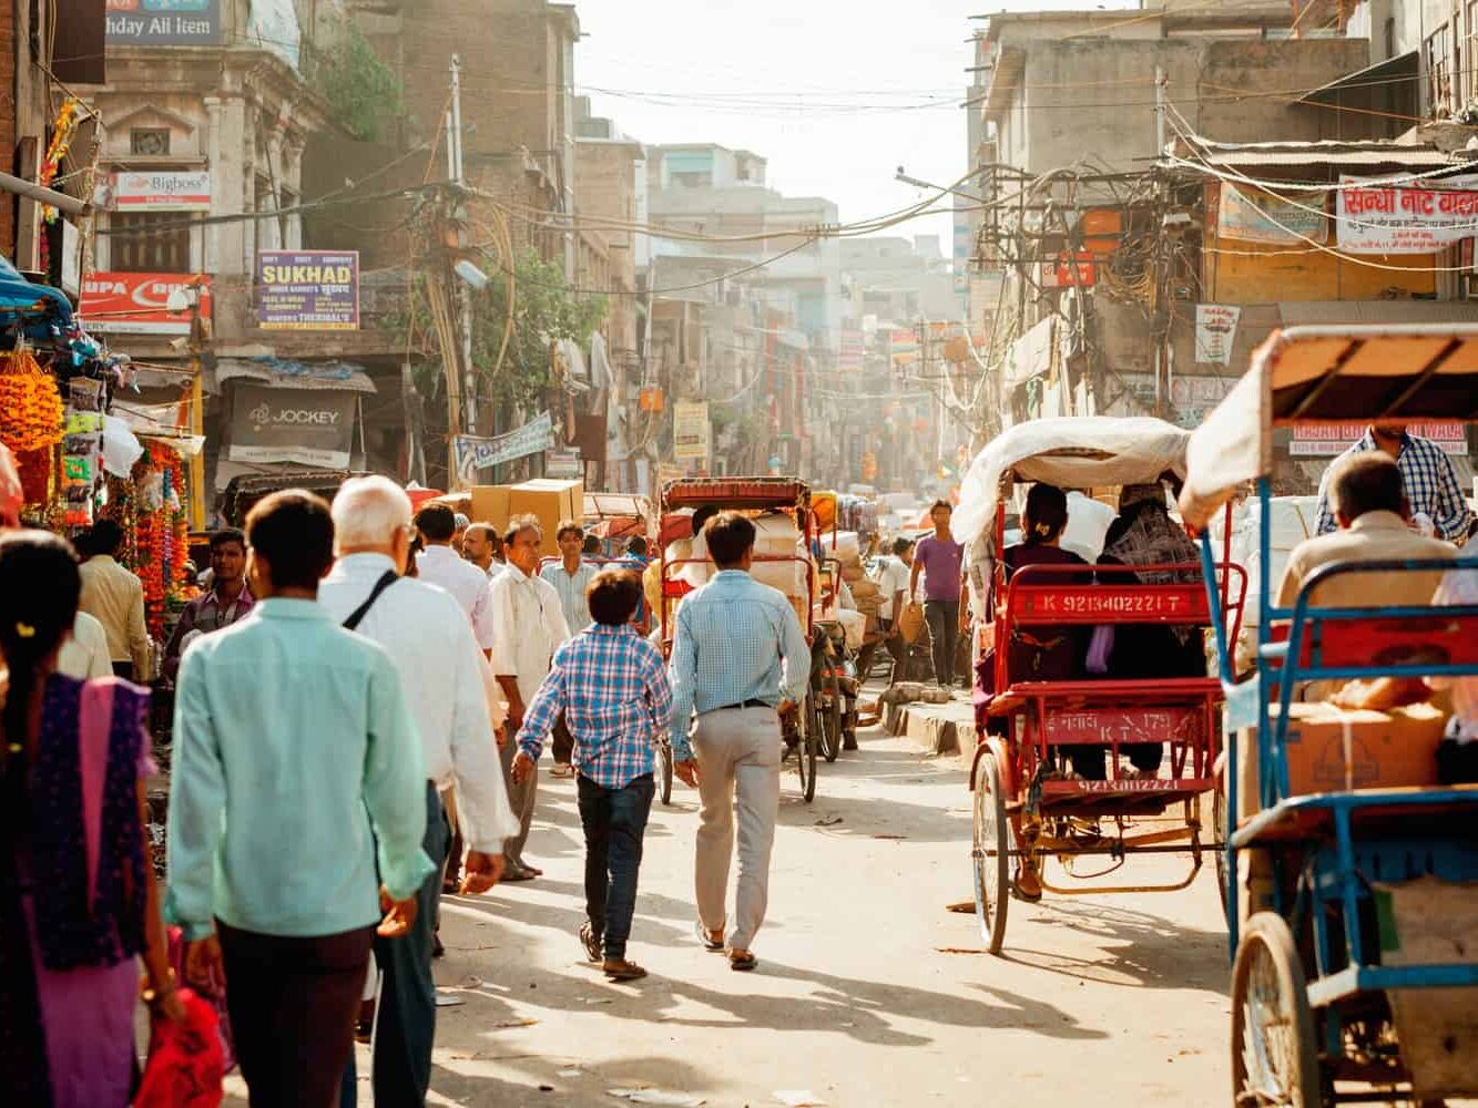
[[[374,928],[287,938],[216,926],[251,1108],[328,1108],[353,1053]]]

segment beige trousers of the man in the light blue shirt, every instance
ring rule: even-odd
[[[773,708],[729,708],[698,718],[698,793],[702,805],[693,883],[698,919],[721,931],[727,913],[729,863],[739,824],[739,889],[733,950],[749,950],[770,897],[770,851],[780,810],[780,718]]]

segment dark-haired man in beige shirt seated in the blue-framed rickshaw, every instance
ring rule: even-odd
[[[1450,542],[1429,539],[1411,530],[1401,470],[1380,452],[1348,455],[1329,474],[1339,530],[1305,539],[1293,548],[1278,607],[1292,607],[1312,573],[1339,561],[1388,561],[1403,558],[1451,558]],[[1314,589],[1320,607],[1370,607],[1372,604],[1429,604],[1441,584],[1441,572],[1400,570],[1342,573]]]

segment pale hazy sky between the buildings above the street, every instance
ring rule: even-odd
[[[1138,7],[1137,0],[584,0],[575,81],[641,142],[769,158],[769,183],[837,201],[842,222],[907,207],[965,173],[970,16]],[[878,12],[873,15],[873,12]],[[905,228],[939,233],[947,216]]]

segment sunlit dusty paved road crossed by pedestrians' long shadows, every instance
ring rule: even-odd
[[[1014,904],[1009,957],[990,957],[974,916],[944,912],[970,888],[964,780],[878,733],[823,767],[810,807],[788,774],[752,975],[692,937],[695,796],[678,784],[647,836],[631,956],[652,977],[636,985],[579,960],[573,789],[541,783],[529,855],[547,876],[445,909],[437,981],[466,1003],[442,1009],[432,1102],[613,1105],[607,1090],[647,1086],[709,1105],[782,1090],[837,1107],[1225,1105],[1210,867],[1171,895]]]

